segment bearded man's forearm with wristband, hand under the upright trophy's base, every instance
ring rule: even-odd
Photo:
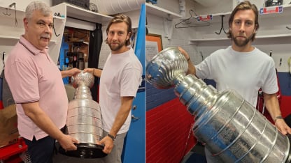
[[[121,106],[118,111],[118,114],[115,117],[115,121],[113,123],[113,127],[111,128],[111,131],[109,134],[111,134],[113,137],[116,137],[118,134],[118,131],[122,127],[122,125],[127,120],[127,116],[132,109],[132,102],[134,101],[134,97],[122,97],[121,98]],[[111,137],[104,137],[99,143],[104,144],[104,153],[111,153],[111,150],[113,148],[113,139]]]

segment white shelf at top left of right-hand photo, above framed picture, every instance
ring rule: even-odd
[[[157,15],[158,17],[166,17],[169,19],[182,18],[182,16],[179,15],[178,13],[173,13],[164,8],[159,8],[158,6],[154,6],[151,3],[146,3],[146,13]]]

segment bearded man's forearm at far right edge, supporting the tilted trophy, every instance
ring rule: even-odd
[[[266,105],[271,118],[274,120],[274,123],[278,130],[282,134],[291,134],[291,128],[285,123],[283,118],[278,118],[282,116],[280,111],[280,106],[277,98],[277,94],[267,94],[264,93],[264,103]]]

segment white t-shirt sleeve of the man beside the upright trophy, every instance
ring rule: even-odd
[[[138,68],[127,68],[122,72],[122,79],[120,83],[120,96],[135,97],[136,92],[141,84],[141,70]]]

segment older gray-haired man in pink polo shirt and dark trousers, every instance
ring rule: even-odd
[[[48,54],[52,38],[52,11],[33,1],[25,10],[24,35],[10,52],[4,70],[17,109],[17,127],[28,146],[31,162],[52,162],[55,139],[65,150],[76,150],[76,139],[63,134],[69,106],[60,72]]]

